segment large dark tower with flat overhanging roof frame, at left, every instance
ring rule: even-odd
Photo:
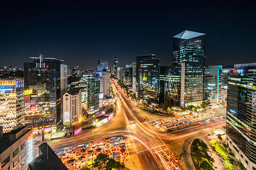
[[[31,58],[34,59],[34,62],[24,62],[25,91],[34,89],[30,94],[30,99],[33,100],[29,102],[45,102],[49,105],[47,107],[49,110],[42,112],[39,110],[43,107],[39,107],[36,103],[31,103],[30,108],[25,109],[26,125],[32,125],[35,128],[34,132],[36,128],[53,124],[59,125],[63,122],[61,99],[67,90],[67,65],[62,64],[63,60],[46,58],[44,55]],[[39,90],[44,91],[44,94],[39,95],[38,88],[42,88],[44,85],[46,85],[45,91]],[[26,100],[28,100],[28,96],[26,96]],[[28,109],[31,112],[28,112]]]

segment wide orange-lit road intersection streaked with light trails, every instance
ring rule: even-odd
[[[131,170],[169,170],[171,169],[171,163],[167,163],[162,156],[164,151],[167,151],[175,154],[180,159],[179,169],[188,170],[192,168],[188,151],[191,140],[211,133],[212,130],[225,125],[225,120],[219,120],[204,125],[190,126],[174,133],[160,132],[144,120],[145,112],[133,105],[118,83],[112,82],[112,87],[117,102],[115,117],[94,130],[85,130],[76,136],[48,141],[47,143],[53,150],[122,135],[126,140],[129,153],[125,160],[122,160],[126,168]],[[218,112],[218,115],[225,114],[224,109],[219,109],[216,112]],[[155,117],[158,118],[159,116],[156,115]],[[135,122],[131,123],[131,119]],[[120,125],[123,121],[125,122],[124,125]],[[38,152],[38,145],[34,146],[35,155]],[[172,160],[171,157],[169,159]]]

